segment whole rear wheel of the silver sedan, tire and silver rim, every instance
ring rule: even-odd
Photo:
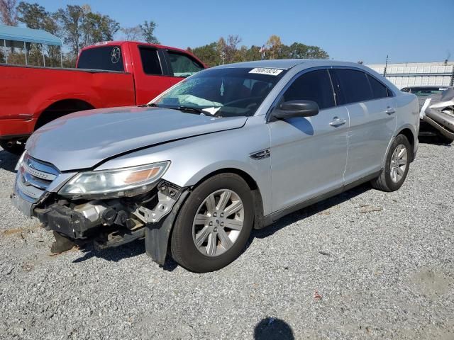
[[[394,138],[386,156],[384,169],[372,186],[381,191],[397,191],[406,179],[411,161],[411,145],[404,135]]]

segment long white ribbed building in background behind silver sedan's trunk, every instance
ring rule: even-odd
[[[367,65],[384,74],[384,64]],[[399,89],[406,86],[453,85],[454,62],[406,62],[388,64],[386,77]]]

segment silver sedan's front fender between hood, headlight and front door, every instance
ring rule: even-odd
[[[253,159],[250,154],[269,147],[269,131],[262,123],[131,152],[111,159],[97,169],[116,169],[169,160],[171,164],[162,179],[182,188],[194,186],[209,174],[235,169],[248,174],[255,181],[262,195],[263,212],[267,215],[271,212],[270,157]]]

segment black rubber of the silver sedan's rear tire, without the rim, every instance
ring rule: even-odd
[[[392,159],[392,154],[394,153],[394,150],[399,146],[399,145],[404,145],[406,148],[407,152],[407,162],[406,162],[406,168],[404,171],[404,175],[402,176],[402,179],[400,179],[397,182],[394,182],[391,179],[391,159]],[[372,184],[372,187],[381,191],[397,191],[399,188],[402,186],[406,179],[406,175],[409,172],[409,166],[411,162],[411,157],[413,155],[413,149],[411,149],[411,145],[409,140],[404,135],[397,135],[396,138],[394,138],[394,141],[392,142],[391,147],[389,147],[388,153],[386,155],[386,161],[384,163],[384,169],[382,170],[382,173],[380,176],[378,176],[376,179],[373,179],[370,181]]]

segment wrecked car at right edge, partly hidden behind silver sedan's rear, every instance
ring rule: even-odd
[[[454,141],[454,87],[412,86],[402,89],[415,94],[419,100],[420,136],[437,136],[450,144]]]

